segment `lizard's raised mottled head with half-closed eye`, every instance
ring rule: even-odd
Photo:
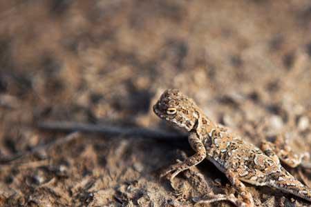
[[[153,111],[161,119],[165,119],[188,131],[194,128],[198,119],[196,103],[176,89],[165,90],[158,102],[153,106]]]

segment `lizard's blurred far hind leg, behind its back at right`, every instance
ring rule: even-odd
[[[288,146],[288,142],[282,135],[276,137],[274,143],[270,141],[262,141],[261,149],[277,164],[280,163],[279,159],[281,159],[284,164],[290,166],[291,168],[299,166],[304,157],[310,157],[307,152],[303,154],[296,154],[292,148]]]

